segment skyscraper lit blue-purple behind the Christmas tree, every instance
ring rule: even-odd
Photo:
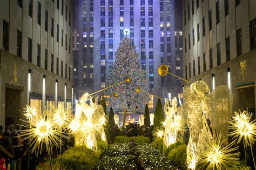
[[[180,1],[76,0],[75,3],[73,51],[77,97],[106,87],[114,52],[125,36],[137,46],[150,92],[160,97],[167,97],[169,92],[178,96],[182,91],[180,81],[170,75],[161,78],[158,67],[166,64],[171,72],[182,75]]]

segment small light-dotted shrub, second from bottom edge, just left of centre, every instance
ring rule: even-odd
[[[116,157],[118,155],[130,154],[130,148],[128,144],[113,144],[107,148],[106,155]]]

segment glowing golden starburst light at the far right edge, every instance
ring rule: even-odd
[[[244,137],[245,146],[251,146],[256,140],[256,122],[255,120],[251,121],[252,113],[248,111],[234,112],[232,121],[230,121],[230,134],[234,138],[238,138],[237,143],[239,144]]]

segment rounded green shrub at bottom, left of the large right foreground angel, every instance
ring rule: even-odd
[[[187,167],[186,167],[186,159],[187,159],[186,148],[187,148],[187,146],[185,144],[181,144],[177,148],[171,149],[171,151],[168,154],[168,158],[170,159],[171,164],[178,169],[187,169]]]

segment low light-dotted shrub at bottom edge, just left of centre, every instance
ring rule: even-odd
[[[102,169],[135,169],[135,157],[133,155],[120,155],[118,157],[103,157]]]

